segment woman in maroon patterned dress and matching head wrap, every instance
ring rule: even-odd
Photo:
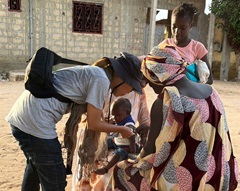
[[[217,91],[187,79],[173,47],[151,53],[142,72],[159,96],[148,140],[135,161],[115,166],[107,190],[236,189],[238,166]]]

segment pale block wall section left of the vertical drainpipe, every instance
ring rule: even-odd
[[[20,65],[28,58],[29,9],[22,1],[21,12],[8,11],[8,1],[0,0],[0,69]]]

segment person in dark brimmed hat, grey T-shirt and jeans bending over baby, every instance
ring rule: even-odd
[[[54,73],[54,88],[72,104],[56,98],[36,98],[25,90],[10,110],[6,120],[27,160],[22,190],[38,191],[40,185],[45,191],[65,190],[66,170],[55,127],[70,110],[66,124],[70,128],[65,131],[69,149],[75,147],[77,122],[85,112],[90,130],[119,132],[127,138],[133,135],[127,127],[102,121],[101,113],[109,89],[115,96],[132,90],[142,93],[140,61],[122,52],[119,57],[103,58],[96,65],[69,67]]]

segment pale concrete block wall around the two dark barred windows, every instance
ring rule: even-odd
[[[102,34],[72,32],[72,0],[33,0],[33,52],[45,46],[63,57],[92,63],[120,51],[143,54],[146,1],[85,0],[103,3]],[[0,70],[25,68],[30,54],[29,1],[9,12],[0,0]]]

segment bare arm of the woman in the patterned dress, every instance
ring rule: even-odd
[[[147,142],[140,153],[140,158],[143,158],[151,153],[154,153],[156,150],[155,141],[161,131],[163,120],[162,98],[157,98],[153,103],[150,118],[151,118],[150,130],[148,133]]]

